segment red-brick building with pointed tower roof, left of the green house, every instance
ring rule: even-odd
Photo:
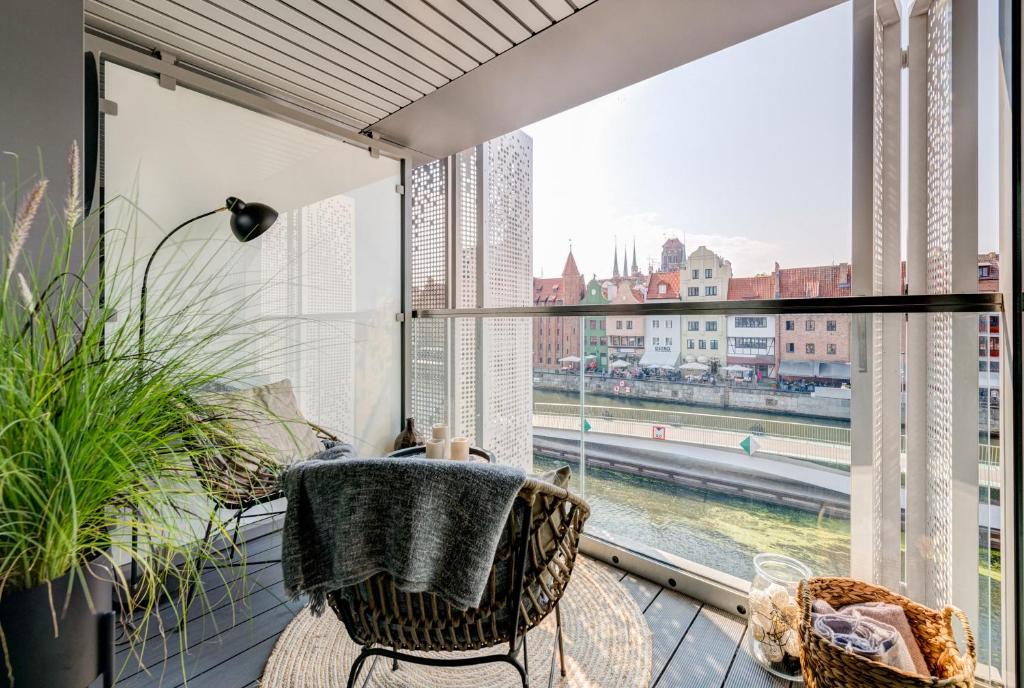
[[[535,306],[573,306],[584,298],[586,285],[572,251],[560,277],[534,277]],[[534,318],[534,368],[558,370],[567,356],[580,356],[580,318],[550,315]]]

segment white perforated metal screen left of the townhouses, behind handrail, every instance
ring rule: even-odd
[[[454,165],[452,189],[446,188],[446,164]],[[450,278],[455,286],[453,304],[459,308],[530,304],[532,142],[528,136],[509,134],[444,163],[418,168],[413,171],[412,192],[414,308],[445,307]],[[449,221],[449,204],[454,205],[455,222]],[[452,224],[455,235],[450,242],[446,232]],[[483,302],[479,303],[481,272]],[[447,420],[454,433],[482,444],[500,462],[529,468],[530,352],[530,327],[523,318],[415,320],[414,416],[423,427]]]

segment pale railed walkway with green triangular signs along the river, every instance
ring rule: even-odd
[[[586,421],[589,431],[594,433],[685,442],[733,451],[756,450],[843,469],[850,466],[850,428],[839,426],[590,404],[586,407]],[[579,431],[580,405],[535,402],[534,427]],[[979,463],[983,482],[996,479],[997,471],[992,469],[998,466],[999,447],[980,444]]]

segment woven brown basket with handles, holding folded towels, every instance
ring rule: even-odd
[[[977,664],[974,634],[967,615],[956,607],[929,609],[885,588],[853,578],[811,578],[800,584],[800,654],[804,682],[808,688],[863,688],[864,686],[949,686],[974,688]],[[862,602],[898,604],[906,613],[922,654],[933,676],[923,677],[893,669],[833,644],[814,632],[811,604],[824,600],[831,606]],[[952,617],[964,625],[967,652],[961,653],[953,638]]]

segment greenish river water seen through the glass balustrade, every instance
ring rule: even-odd
[[[561,392],[536,391],[535,401],[577,403],[579,397]],[[595,405],[623,405],[670,411],[698,411],[657,401],[597,400]],[[766,419],[756,413],[732,414]],[[819,422],[815,419],[814,422]],[[822,422],[825,423],[825,422]],[[562,465],[537,456],[535,470]],[[572,465],[573,487],[579,484],[579,462]],[[686,487],[656,478],[588,467],[586,499],[592,516],[587,528],[603,530],[624,545],[638,543],[744,579],[754,576],[754,555],[777,552],[810,566],[815,575],[849,575],[850,521],[828,513],[809,513]],[[998,552],[979,551],[980,617],[975,635],[979,661],[998,665],[1000,580]]]

